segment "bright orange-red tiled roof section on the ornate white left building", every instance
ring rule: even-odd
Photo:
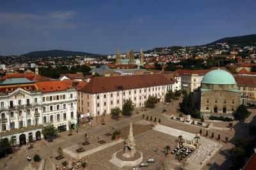
[[[63,81],[40,81],[35,82],[35,84],[42,93],[63,91],[72,87],[72,85],[70,86],[70,84],[67,84]]]

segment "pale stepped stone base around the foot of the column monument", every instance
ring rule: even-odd
[[[122,151],[122,150],[120,150]],[[116,153],[118,153],[119,151],[117,151]],[[140,164],[140,162],[142,162],[143,160],[143,155],[140,152],[140,158],[138,158],[137,160],[134,161],[124,161],[124,160],[120,160],[120,158],[116,158],[116,153],[114,153],[112,155],[111,160],[109,160],[109,162],[111,162],[112,164],[115,164],[115,166],[118,167],[124,167],[124,166],[137,166],[138,164]]]

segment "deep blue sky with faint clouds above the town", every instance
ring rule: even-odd
[[[255,0],[0,1],[0,55],[125,53],[256,33]]]

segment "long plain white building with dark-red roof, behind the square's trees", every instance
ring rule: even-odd
[[[149,96],[163,102],[172,86],[173,82],[163,74],[94,77],[79,91],[78,112],[89,112],[91,116],[110,114],[115,107],[122,109],[125,100],[132,100],[134,107],[143,107]]]

